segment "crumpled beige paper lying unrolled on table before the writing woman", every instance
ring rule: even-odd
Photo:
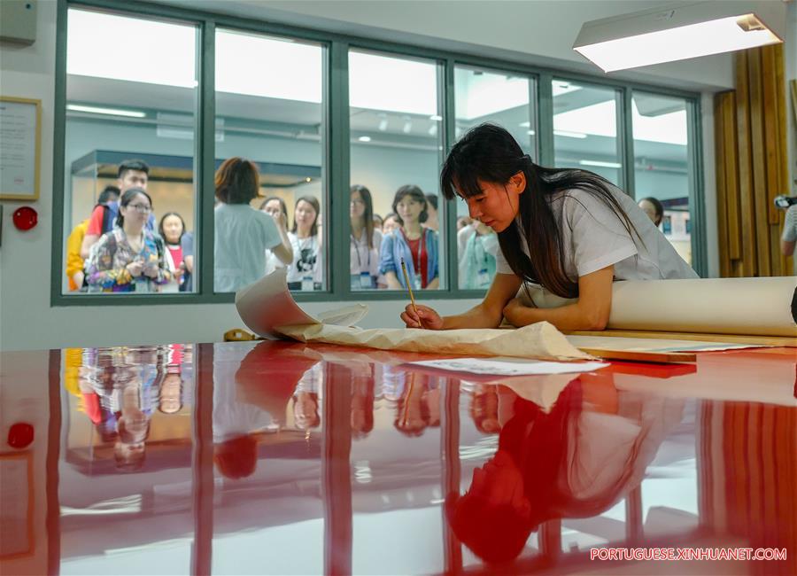
[[[302,342],[326,342],[380,350],[514,356],[540,360],[592,358],[572,346],[553,324],[547,322],[538,322],[512,331],[489,328],[445,331],[407,328],[360,330],[326,324],[282,326],[278,331]]]

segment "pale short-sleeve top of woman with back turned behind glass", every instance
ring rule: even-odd
[[[213,286],[236,292],[266,274],[263,254],[282,242],[274,218],[248,204],[220,203],[214,209]]]

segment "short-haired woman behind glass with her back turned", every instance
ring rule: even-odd
[[[216,171],[213,209],[213,285],[216,292],[236,292],[266,274],[266,250],[279,261],[293,260],[291,241],[274,218],[250,206],[260,187],[258,167],[244,158],[222,162]]]

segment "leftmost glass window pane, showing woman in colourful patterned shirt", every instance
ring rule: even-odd
[[[63,293],[193,290],[196,45],[191,25],[67,12]]]

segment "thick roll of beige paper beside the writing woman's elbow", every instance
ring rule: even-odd
[[[607,328],[797,337],[791,313],[795,287],[797,276],[615,282]],[[575,301],[539,286],[530,292],[537,307]]]

